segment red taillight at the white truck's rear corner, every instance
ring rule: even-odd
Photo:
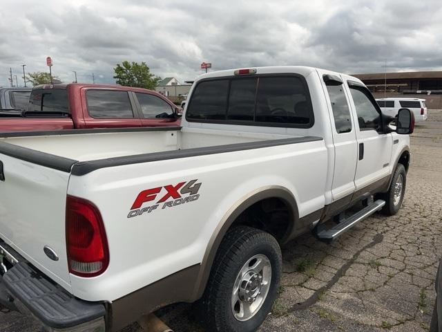
[[[106,270],[109,250],[98,208],[74,196],[66,199],[66,248],[69,271],[80,277],[95,277]]]

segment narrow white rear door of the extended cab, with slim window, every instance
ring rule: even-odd
[[[349,108],[348,97],[342,77],[336,73],[318,70],[332,119],[334,144],[334,175],[332,184],[333,201],[347,196],[352,198],[355,190],[354,174],[358,160],[356,129]],[[345,204],[346,202],[343,202]]]

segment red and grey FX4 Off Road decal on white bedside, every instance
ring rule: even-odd
[[[200,198],[198,190],[202,183],[196,183],[198,179],[189,182],[180,182],[176,185],[164,185],[143,190],[138,194],[137,199],[132,204],[131,211],[127,217],[141,216],[144,213],[151,213],[154,210],[164,210],[196,201]],[[153,205],[143,206],[145,203],[154,201]]]

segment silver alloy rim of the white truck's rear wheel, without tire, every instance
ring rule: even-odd
[[[255,255],[242,266],[231,297],[231,307],[236,320],[244,322],[260,310],[269,293],[271,263],[265,255]]]

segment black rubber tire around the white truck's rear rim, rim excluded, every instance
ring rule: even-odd
[[[237,320],[231,304],[233,284],[244,264],[255,255],[265,255],[271,264],[267,297],[246,321]],[[218,248],[200,310],[206,331],[251,332],[264,322],[276,299],[282,270],[281,250],[271,234],[247,226],[231,228]]]

